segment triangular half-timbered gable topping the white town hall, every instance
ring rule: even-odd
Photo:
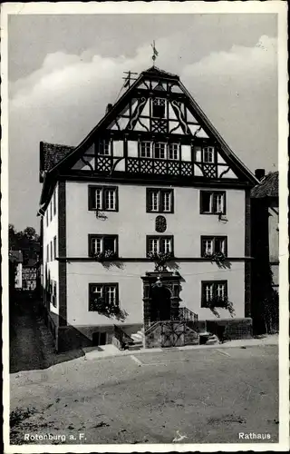
[[[156,67],[140,74],[56,168],[83,176],[256,183],[179,76]]]

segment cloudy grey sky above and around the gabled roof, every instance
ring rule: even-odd
[[[247,167],[277,170],[275,14],[10,15],[9,222],[39,230],[39,143],[77,145],[124,71],[179,74]],[[122,94],[123,92],[121,92]]]

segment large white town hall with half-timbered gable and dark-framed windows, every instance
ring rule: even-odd
[[[195,315],[251,334],[257,180],[178,75],[141,73],[77,147],[41,143],[40,181],[44,303],[58,350],[109,343],[116,324],[146,337],[156,321]],[[171,254],[169,271],[154,271],[150,252]],[[123,321],[95,301],[120,306]]]

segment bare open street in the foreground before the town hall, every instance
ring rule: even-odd
[[[277,442],[277,347],[132,353],[12,374],[12,443]]]

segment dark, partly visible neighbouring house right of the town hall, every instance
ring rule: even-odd
[[[263,301],[272,289],[279,291],[279,175],[256,170],[260,181],[251,192],[252,212],[252,299],[256,330],[263,331],[260,320]],[[254,323],[255,324],[255,323]]]

